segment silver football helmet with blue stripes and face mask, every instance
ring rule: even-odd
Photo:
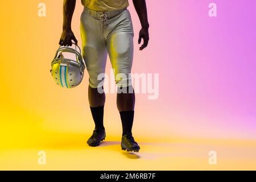
[[[52,60],[51,74],[57,85],[63,88],[74,88],[79,85],[84,77],[85,64],[82,59],[81,49],[75,45],[75,49],[68,46],[60,46]],[[72,58],[65,54],[72,55]]]

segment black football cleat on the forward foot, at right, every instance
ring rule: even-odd
[[[123,135],[121,148],[122,150],[126,150],[128,152],[139,152],[139,150],[141,149],[141,147],[139,147],[138,143],[135,142],[133,135],[131,134]]]

